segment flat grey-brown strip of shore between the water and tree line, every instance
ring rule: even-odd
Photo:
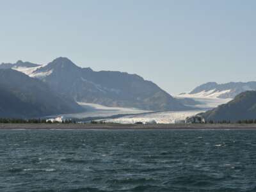
[[[0,129],[256,129],[256,124],[0,124]]]

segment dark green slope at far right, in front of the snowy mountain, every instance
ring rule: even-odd
[[[234,100],[202,113],[202,115],[208,121],[230,120],[236,122],[237,120],[256,119],[256,92],[240,93]]]

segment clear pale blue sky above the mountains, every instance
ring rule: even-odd
[[[166,92],[256,81],[256,1],[0,0],[0,63],[138,74]]]

